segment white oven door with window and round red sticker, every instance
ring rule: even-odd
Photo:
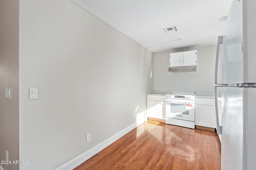
[[[195,121],[195,101],[166,99],[166,118]]]

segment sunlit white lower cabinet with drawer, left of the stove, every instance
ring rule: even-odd
[[[148,95],[147,98],[147,117],[165,120],[166,97]]]

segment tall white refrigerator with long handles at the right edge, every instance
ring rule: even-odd
[[[217,133],[221,134],[221,169],[256,169],[256,1],[234,0],[227,29],[218,37],[215,70]],[[218,58],[222,44],[222,84]],[[222,89],[222,125],[217,88]]]

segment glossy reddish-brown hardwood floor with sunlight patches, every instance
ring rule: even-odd
[[[74,170],[220,170],[220,141],[212,131],[150,121]]]

